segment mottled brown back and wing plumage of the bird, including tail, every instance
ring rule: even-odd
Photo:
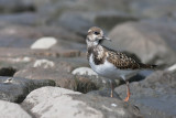
[[[124,53],[110,50],[106,46],[92,46],[88,47],[87,58],[90,54],[94,55],[95,63],[103,64],[105,60],[112,63],[119,69],[141,69],[141,68],[154,68],[155,65],[142,64],[134,58],[125,55]]]

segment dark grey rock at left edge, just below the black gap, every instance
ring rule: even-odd
[[[32,90],[42,86],[55,86],[53,81],[34,81],[20,77],[0,77],[0,99],[21,103]]]

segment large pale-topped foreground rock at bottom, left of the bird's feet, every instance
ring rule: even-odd
[[[142,117],[136,107],[121,100],[100,96],[84,95],[59,87],[43,87],[33,90],[22,103],[22,106],[35,117]]]

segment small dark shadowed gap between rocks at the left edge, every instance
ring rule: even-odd
[[[13,67],[2,67],[0,68],[0,76],[13,76],[16,68]]]

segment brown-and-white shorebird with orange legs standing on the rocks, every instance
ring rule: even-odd
[[[109,78],[111,82],[111,95],[113,97],[112,79],[123,79],[127,85],[127,97],[124,101],[130,99],[129,78],[134,76],[140,69],[155,68],[156,65],[143,64],[127,54],[111,50],[102,45],[102,42],[111,41],[105,36],[103,31],[98,26],[88,30],[86,36],[87,60],[90,67],[98,75]]]

